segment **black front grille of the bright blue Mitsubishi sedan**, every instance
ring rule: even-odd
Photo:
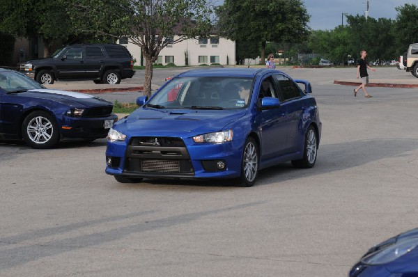
[[[143,173],[194,173],[185,143],[180,138],[135,137],[127,145],[125,171]]]

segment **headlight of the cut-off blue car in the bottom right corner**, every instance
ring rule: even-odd
[[[399,242],[396,242],[396,244],[392,244],[391,246],[382,248],[382,250],[380,251],[367,255],[362,259],[362,262],[364,262],[364,264],[369,265],[386,264],[388,262],[393,262],[394,260],[400,258],[406,253],[409,253],[417,246],[418,237],[401,240]]]

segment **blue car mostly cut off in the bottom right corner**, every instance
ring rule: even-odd
[[[350,277],[418,277],[418,228],[373,246]]]

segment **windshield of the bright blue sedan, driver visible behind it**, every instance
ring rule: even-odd
[[[244,109],[253,79],[237,77],[175,78],[147,106],[157,109]]]

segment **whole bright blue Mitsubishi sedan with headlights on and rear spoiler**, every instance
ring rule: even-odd
[[[311,168],[321,123],[310,93],[308,81],[278,70],[183,72],[110,129],[106,173],[118,182],[219,178],[250,187],[274,164]]]

